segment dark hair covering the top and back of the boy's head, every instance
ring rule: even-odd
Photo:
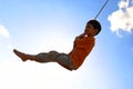
[[[94,36],[99,34],[99,32],[101,31],[101,24],[100,24],[100,22],[99,22],[98,20],[90,20],[90,21],[86,23],[86,27],[88,27],[89,24],[93,26],[94,30],[96,31],[96,33],[95,33]]]

